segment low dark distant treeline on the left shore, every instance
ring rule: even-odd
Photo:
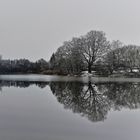
[[[36,62],[28,59],[0,60],[0,74],[43,73],[46,69],[49,69],[49,64],[44,59]]]

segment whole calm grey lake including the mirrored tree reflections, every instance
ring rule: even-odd
[[[139,140],[140,81],[0,76],[1,140]]]

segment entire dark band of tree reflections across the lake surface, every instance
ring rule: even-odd
[[[87,117],[93,122],[104,121],[108,112],[122,108],[140,107],[140,83],[80,83],[80,82],[27,82],[0,81],[0,88],[50,86],[52,93],[65,109]]]

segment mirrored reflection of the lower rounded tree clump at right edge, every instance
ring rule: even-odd
[[[140,107],[140,83],[110,83],[105,84],[103,89],[106,90],[108,99],[113,102],[115,110]]]

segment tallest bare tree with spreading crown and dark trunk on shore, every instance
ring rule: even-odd
[[[110,43],[102,31],[90,31],[82,36],[80,41],[81,55],[87,63],[88,72],[91,73],[93,64],[106,54],[110,48]]]

